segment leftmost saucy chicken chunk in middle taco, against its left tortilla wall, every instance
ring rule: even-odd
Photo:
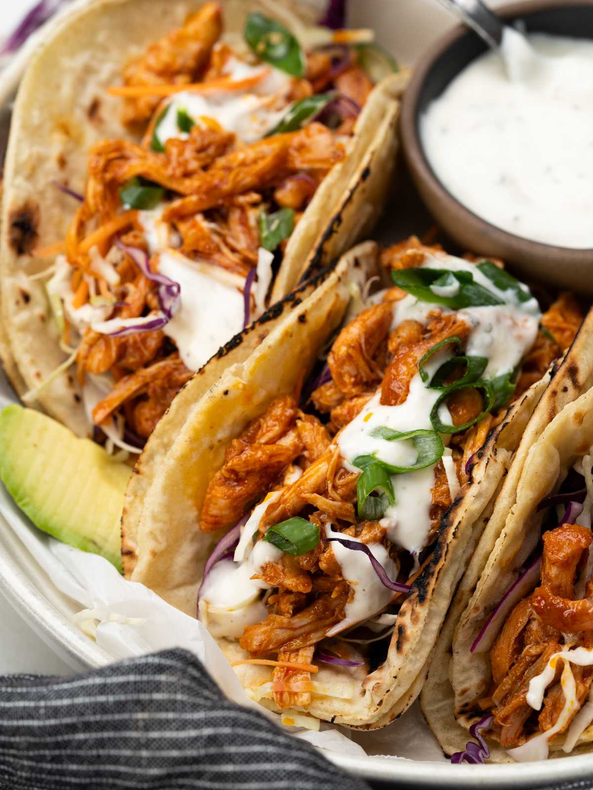
[[[294,428],[297,415],[293,398],[277,398],[231,442],[223,467],[206,491],[200,521],[203,532],[238,521],[246,507],[269,491],[283,469],[302,453],[302,440]]]

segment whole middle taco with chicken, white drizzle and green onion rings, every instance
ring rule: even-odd
[[[520,431],[486,437],[511,397],[532,410],[560,348],[495,262],[410,239],[383,252],[395,286],[349,308],[299,400],[353,256],[186,421],[133,525],[129,577],[197,608],[266,707],[370,729],[422,687]]]

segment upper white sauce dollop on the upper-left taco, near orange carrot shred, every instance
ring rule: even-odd
[[[232,69],[229,63],[232,64]],[[178,111],[185,111],[194,123],[203,118],[211,118],[220,123],[227,132],[235,132],[245,143],[253,143],[265,137],[278,125],[287,112],[287,106],[276,107],[279,99],[291,85],[291,78],[278,69],[270,66],[250,66],[249,63],[230,58],[226,67],[229,76],[239,81],[257,74],[266,74],[261,82],[244,91],[220,91],[202,94],[193,91],[176,93],[167,107],[163,119],[156,127],[156,137],[161,145],[167,140],[176,138],[186,140],[189,137],[178,127]],[[280,101],[286,105],[286,102]]]

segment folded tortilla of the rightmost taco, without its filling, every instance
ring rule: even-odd
[[[504,432],[516,424],[519,445],[486,512],[486,529],[460,582],[422,689],[422,711],[445,754],[464,751],[467,729],[486,715],[479,713],[478,701],[489,694],[490,656],[472,653],[471,647],[538,543],[548,510],[538,513],[537,506],[558,490],[579,452],[587,453],[593,441],[591,312],[549,375],[541,397],[537,390],[544,381],[524,393],[501,425]],[[593,729],[578,743],[591,739]],[[552,740],[550,751],[557,752],[564,742],[564,735]],[[498,743],[489,743],[490,762],[515,762]],[[572,754],[584,749],[576,747]]]

